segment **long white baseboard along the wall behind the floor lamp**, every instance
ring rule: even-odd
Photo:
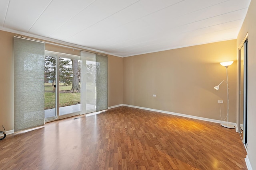
[[[127,104],[122,104],[122,106],[134,107],[134,108],[137,108],[137,109],[144,109],[144,110],[150,110],[150,111],[156,111],[156,112],[160,112],[160,113],[166,113],[166,114],[170,114],[170,115],[177,115],[177,116],[182,116],[182,117],[188,117],[188,118],[198,119],[198,120],[203,120],[203,121],[210,121],[210,122],[214,122],[214,123],[221,123],[220,120],[208,119],[208,118],[205,118],[205,117],[198,117],[198,116],[186,115],[186,114],[181,114],[181,113],[174,113],[174,112],[170,112],[170,111],[150,109],[150,108],[140,107],[140,106],[132,106],[132,105],[127,105]],[[226,121],[222,121],[222,122],[223,123],[227,123]],[[233,123],[233,122],[228,122],[228,123],[230,125],[234,125],[235,128],[236,128],[236,132],[238,131],[236,123]]]

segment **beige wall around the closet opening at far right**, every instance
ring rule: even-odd
[[[237,37],[237,49],[248,33],[248,107],[247,142],[248,158],[252,169],[256,170],[256,0],[252,0]]]

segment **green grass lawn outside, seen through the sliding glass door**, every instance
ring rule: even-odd
[[[65,86],[60,83],[60,107],[71,106],[80,103],[80,93],[62,93],[62,90],[71,90],[72,86]],[[95,98],[94,84],[88,83],[86,95],[88,98]],[[55,108],[55,92],[52,83],[44,84],[44,109]],[[88,100],[86,103],[94,104],[94,100]]]

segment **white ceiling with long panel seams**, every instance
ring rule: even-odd
[[[250,0],[0,0],[0,29],[127,57],[236,39],[249,4]]]

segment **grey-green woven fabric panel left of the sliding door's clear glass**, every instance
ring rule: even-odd
[[[44,125],[44,49],[14,37],[14,132]]]

